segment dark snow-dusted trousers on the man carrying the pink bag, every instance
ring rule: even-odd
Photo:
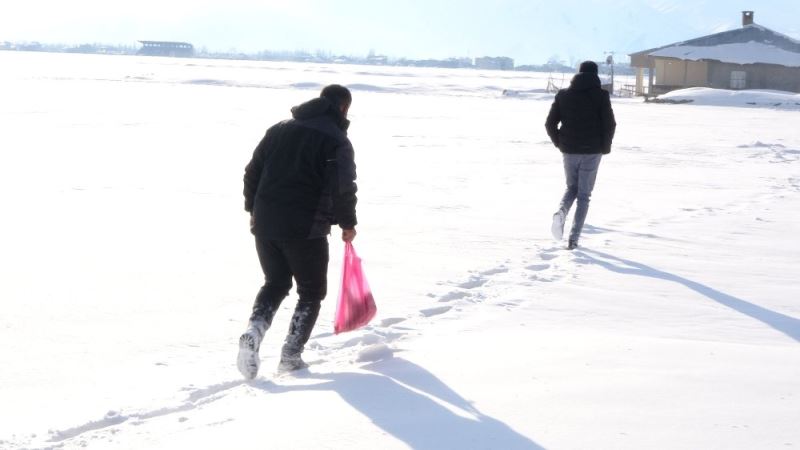
[[[299,300],[286,336],[283,355],[302,353],[328,291],[328,238],[273,240],[256,236],[256,251],[264,286],[258,291],[250,320],[272,324],[275,312],[289,295],[292,279]]]

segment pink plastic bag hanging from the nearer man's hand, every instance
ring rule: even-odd
[[[336,304],[333,331],[336,334],[353,331],[368,324],[378,311],[367,278],[361,269],[361,258],[353,244],[345,242],[342,263],[342,288]]]

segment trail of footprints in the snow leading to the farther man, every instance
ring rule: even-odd
[[[421,308],[416,314],[382,318],[361,330],[339,336],[334,336],[332,333],[312,336],[307,346],[309,350],[306,353],[307,360],[313,364],[315,370],[324,372],[328,370],[325,367],[328,364],[336,365],[347,360],[364,363],[386,358],[399,351],[393,345],[397,341],[424,330],[425,327],[419,323],[420,321],[441,320],[458,317],[458,314],[469,314],[470,306],[481,303],[513,309],[525,300],[503,295],[506,287],[513,288],[520,285],[535,287],[539,283],[564,279],[568,272],[563,263],[574,259],[559,247],[545,249],[532,247],[528,250],[530,256],[523,257],[518,262],[506,260],[495,267],[470,272],[464,280],[439,283],[439,286],[445,288],[445,292],[429,293],[428,298],[431,300],[429,305]],[[31,448],[58,449],[64,445],[85,446],[91,442],[111,441],[125,424],[140,426],[159,418],[173,417],[179,423],[190,421],[188,415],[193,410],[221,400],[240,387],[250,386],[257,389],[261,385],[273,383],[273,379],[281,380],[280,376],[266,369],[274,362],[268,361],[269,358],[272,356],[262,356],[262,368],[265,370],[253,381],[247,382],[234,375],[236,369],[232,363],[232,380],[205,387],[189,385],[182,390],[186,395],[183,401],[153,410],[127,413],[112,410],[98,420],[72,428],[50,430],[46,441],[41,443],[44,445]],[[31,441],[36,440],[23,439],[23,442],[30,445],[33,443]],[[19,444],[21,444],[19,447],[28,448],[28,445],[22,442]]]

